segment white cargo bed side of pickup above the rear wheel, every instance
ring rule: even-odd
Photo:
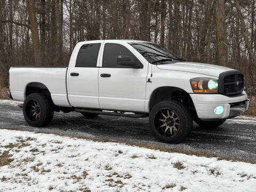
[[[67,67],[13,66],[9,73],[10,92],[13,99],[24,101],[28,86],[42,84],[42,87],[47,87],[51,92],[55,105],[69,106],[66,89]]]

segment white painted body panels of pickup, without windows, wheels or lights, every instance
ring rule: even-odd
[[[245,92],[238,97],[193,93],[190,85],[191,78],[210,77],[218,79],[220,73],[233,69],[196,62],[153,65],[129,44],[132,42],[139,43],[143,41],[100,40],[80,42],[75,46],[68,69],[11,67],[11,95],[13,99],[23,101],[25,100],[26,86],[29,83],[38,82],[49,89],[52,100],[57,106],[70,107],[71,105],[80,108],[149,113],[150,99],[153,92],[159,87],[172,86],[178,87],[190,95],[197,116],[202,119],[226,118],[229,116],[229,103],[247,100]],[[77,54],[81,46],[93,43],[101,43],[97,67],[75,67]],[[103,51],[107,43],[115,43],[126,47],[142,63],[143,68],[102,67]],[[70,76],[71,73],[79,73],[79,76]],[[111,74],[111,77],[104,78],[100,74]],[[151,82],[147,82],[149,78]],[[248,107],[249,102],[246,105]],[[224,108],[220,115],[214,114],[214,109],[217,106]]]

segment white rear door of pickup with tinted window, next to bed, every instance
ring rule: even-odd
[[[68,70],[68,98],[71,106],[99,108],[98,73],[103,41],[79,43]],[[78,51],[79,50],[79,51]]]

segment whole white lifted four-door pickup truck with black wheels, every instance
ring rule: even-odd
[[[217,127],[249,106],[241,72],[133,40],[80,42],[68,67],[11,67],[8,94],[24,101],[31,126],[49,124],[54,111],[149,116],[155,137],[170,143],[185,139],[193,121]]]

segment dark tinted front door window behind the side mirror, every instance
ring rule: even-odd
[[[132,68],[119,66],[117,63],[118,55],[129,56],[132,61],[140,62],[131,51],[129,51],[125,46],[114,44],[114,43],[106,43],[104,47],[102,67],[107,68]]]

